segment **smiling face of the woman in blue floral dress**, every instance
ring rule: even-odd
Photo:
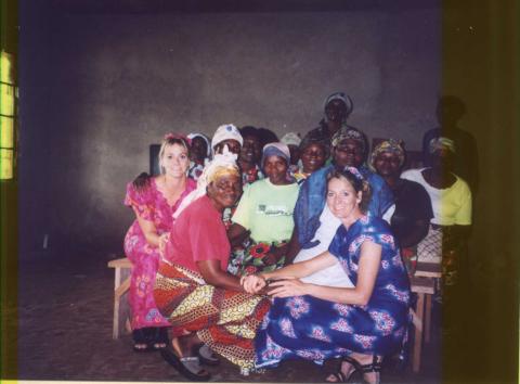
[[[362,193],[355,192],[346,178],[332,178],[327,185],[327,206],[339,219],[348,219],[361,214]]]

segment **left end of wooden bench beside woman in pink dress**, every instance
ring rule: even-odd
[[[128,290],[130,287],[130,274],[132,263],[123,257],[108,261],[108,268],[115,269],[114,279],[114,319],[112,325],[112,338],[116,340],[126,330],[131,332],[130,307],[128,305]]]

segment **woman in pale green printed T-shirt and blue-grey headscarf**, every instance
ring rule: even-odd
[[[288,174],[289,158],[285,144],[271,143],[263,149],[266,179],[245,188],[227,231],[233,246],[227,270],[233,274],[273,270],[285,263],[298,197],[298,184]]]

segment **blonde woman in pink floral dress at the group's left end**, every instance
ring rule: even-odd
[[[146,187],[127,187],[125,205],[132,207],[135,221],[125,236],[125,254],[132,261],[129,303],[132,310],[133,349],[147,351],[165,348],[169,322],[155,305],[153,290],[159,249],[168,240],[173,213],[196,187],[186,177],[190,167],[190,143],[182,136],[168,133],[159,151],[161,174]]]

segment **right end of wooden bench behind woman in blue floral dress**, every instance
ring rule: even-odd
[[[414,346],[412,353],[412,370],[414,372],[418,372],[420,369],[422,335],[425,335],[425,343],[430,342],[431,298],[435,292],[435,279],[439,278],[441,278],[440,265],[431,263],[417,263],[414,277],[411,279],[412,292],[417,294],[417,304],[415,306],[415,310],[411,309],[415,328]]]

